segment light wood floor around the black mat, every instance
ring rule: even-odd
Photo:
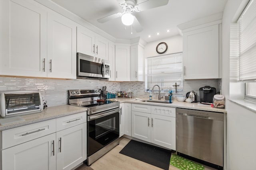
[[[126,146],[130,141],[125,137],[120,138],[120,143],[114,149],[110,150],[104,156],[99,158],[96,162],[91,164],[91,168],[94,170],[162,170],[151,164],[147,164],[140,160],[131,158],[119,152]],[[86,170],[86,165],[78,167],[76,170]],[[174,166],[169,166],[169,170],[179,170]],[[205,170],[215,170],[205,166]]]

